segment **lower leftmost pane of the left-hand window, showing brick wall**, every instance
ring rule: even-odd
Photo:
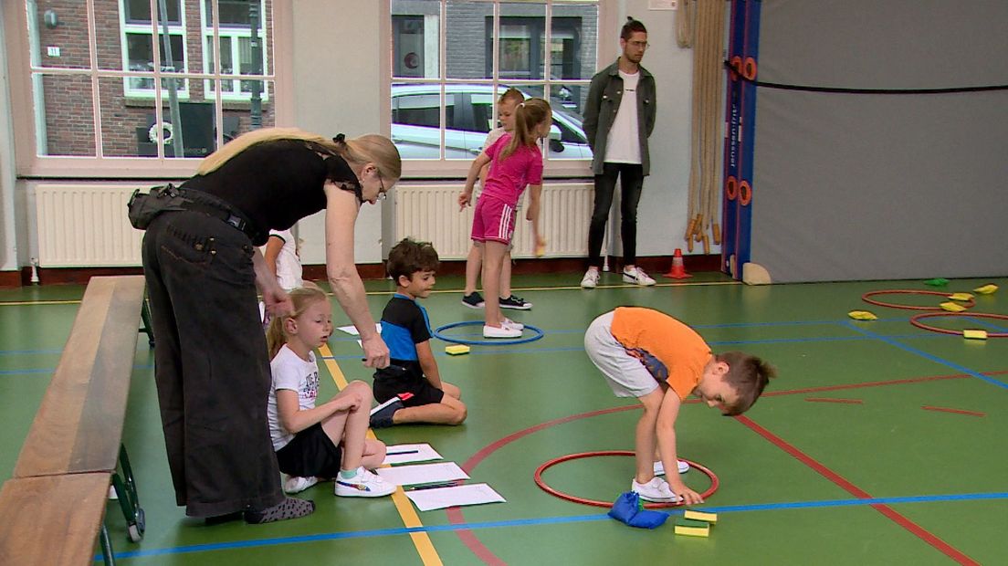
[[[91,77],[36,74],[32,81],[44,100],[35,110],[36,136],[44,140],[38,154],[95,156]]]

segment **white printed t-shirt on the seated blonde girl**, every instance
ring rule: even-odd
[[[296,392],[300,410],[313,409],[319,397],[319,366],[316,364],[314,352],[309,351],[308,359],[301,360],[287,344],[283,344],[269,363],[269,370],[273,381],[269,388],[266,418],[269,421],[273,451],[276,451],[294,438],[294,434],[280,424],[280,416],[276,410],[276,390],[289,389]]]

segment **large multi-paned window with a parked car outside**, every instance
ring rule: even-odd
[[[514,87],[546,98],[553,109],[547,160],[591,159],[582,110],[597,66],[598,2],[390,0],[390,6],[392,139],[403,158],[471,160],[498,125],[497,99]]]

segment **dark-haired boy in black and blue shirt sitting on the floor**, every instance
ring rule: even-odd
[[[374,428],[404,423],[458,425],[466,420],[459,388],[444,382],[430,350],[427,311],[416,299],[434,286],[437,252],[408,238],[388,253],[388,273],[395,295],[381,315],[381,336],[391,365],[375,372],[375,400],[391,401],[371,417]]]

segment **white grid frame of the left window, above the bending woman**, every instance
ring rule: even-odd
[[[274,122],[276,125],[290,124],[293,120],[293,106],[289,93],[294,92],[294,85],[289,69],[293,64],[293,53],[291,52],[291,39],[293,33],[292,8],[290,2],[274,0],[271,4],[272,37],[273,37],[273,73],[263,75],[244,76],[243,80],[258,80],[264,83],[272,83],[275,99],[271,101]],[[173,157],[170,151],[165,154],[163,144],[158,144],[157,157],[140,156],[109,156],[104,155],[102,145],[102,109],[101,95],[99,91],[99,80],[101,79],[122,79],[130,77],[147,77],[138,72],[126,69],[99,68],[97,55],[97,40],[95,35],[95,0],[86,0],[83,10],[87,11],[88,25],[88,49],[90,64],[86,68],[62,67],[62,66],[42,66],[32,64],[32,51],[30,44],[29,21],[27,2],[17,2],[14,9],[5,9],[3,18],[3,41],[7,51],[8,81],[10,85],[11,108],[30,109],[27,112],[12,113],[13,133],[19,143],[14,151],[14,171],[17,178],[21,179],[98,179],[98,178],[118,178],[124,180],[161,180],[161,179],[181,179],[192,176],[199,167],[198,157]],[[265,13],[265,12],[264,12]],[[120,19],[124,18],[124,10],[120,4]],[[266,21],[264,16],[263,21]],[[37,25],[37,23],[36,23]],[[153,24],[150,27],[153,33]],[[113,32],[114,33],[114,32]],[[119,31],[122,35],[122,31]],[[263,33],[266,27],[263,27]],[[202,41],[202,38],[201,38]],[[186,47],[187,49],[187,47]],[[268,49],[264,47],[264,61]],[[157,58],[155,61],[159,65],[159,49],[153,53]],[[215,58],[219,54],[215,53]],[[186,64],[188,58],[186,57]],[[279,67],[280,73],[276,73]],[[264,68],[268,68],[265,66]],[[284,69],[287,69],[284,72]],[[93,108],[93,129],[95,155],[71,156],[71,155],[38,155],[38,137],[36,130],[35,106],[40,97],[36,97],[33,84],[36,77],[47,76],[72,76],[85,77],[91,83],[91,105]],[[188,81],[214,80],[214,74],[204,73],[162,73],[158,68],[154,69],[154,79],[163,80],[168,77]],[[229,80],[222,78],[222,80]],[[125,83],[124,83],[125,85]],[[106,87],[107,88],[107,87]],[[167,113],[167,96],[161,96],[160,91],[151,90],[153,97],[147,100],[153,101],[153,109],[157,121]],[[264,91],[266,91],[264,89]],[[265,93],[264,93],[265,94]],[[132,98],[132,97],[131,97]],[[139,98],[139,97],[138,97]],[[179,99],[181,97],[179,96]],[[224,117],[223,109],[226,101],[219,93],[207,93],[206,101],[215,103],[215,121],[222,127],[217,128],[217,144],[223,144]],[[263,100],[266,100],[265,97]],[[240,103],[242,101],[235,101]],[[234,103],[232,103],[234,104]],[[165,110],[162,112],[162,108]],[[44,134],[43,134],[44,135]]]

